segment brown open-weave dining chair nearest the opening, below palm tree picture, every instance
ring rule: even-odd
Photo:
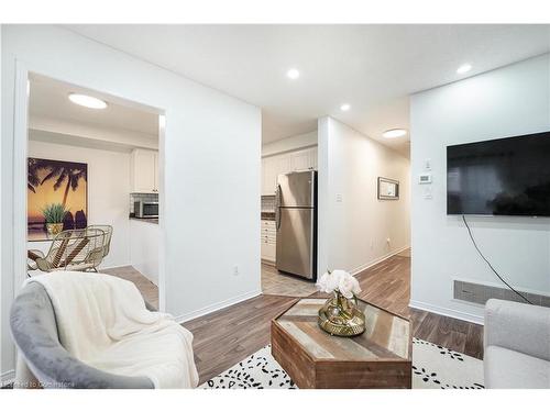
[[[63,231],[52,241],[50,250],[28,250],[31,270],[95,270],[103,260],[106,233],[100,229]]]

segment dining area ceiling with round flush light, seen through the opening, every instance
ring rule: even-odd
[[[136,132],[140,137],[158,138],[158,114],[148,108],[136,108],[138,104],[124,102],[96,90],[31,75],[29,114],[31,121],[46,119],[63,121],[66,124],[96,126],[100,130]],[[95,110],[77,105],[68,100],[72,92],[84,93],[102,99],[108,103],[103,110]]]

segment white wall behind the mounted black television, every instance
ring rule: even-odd
[[[411,170],[432,163],[432,199],[413,185],[411,304],[482,322],[480,305],[452,300],[452,279],[502,286],[458,216],[447,216],[446,146],[550,129],[549,55],[428,90],[411,98]],[[550,219],[468,218],[497,270],[522,290],[550,292]]]

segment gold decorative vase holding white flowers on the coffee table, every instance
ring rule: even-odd
[[[324,332],[337,336],[358,336],[365,332],[365,314],[359,309],[358,299],[344,298],[339,291],[319,309],[318,323]]]

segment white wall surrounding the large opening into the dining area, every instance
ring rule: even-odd
[[[13,243],[22,241],[13,237],[13,216],[24,210],[21,199],[13,198],[15,62],[165,111],[161,307],[188,318],[260,293],[260,109],[63,27],[2,26],[1,235],[2,245],[9,245],[2,247],[1,261],[3,370],[13,367],[6,320],[19,288],[12,277]]]

